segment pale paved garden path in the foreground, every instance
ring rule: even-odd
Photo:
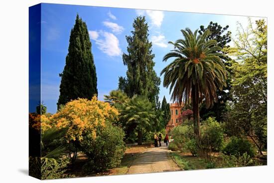
[[[133,162],[127,174],[179,171],[180,168],[167,156],[166,146],[148,148]]]

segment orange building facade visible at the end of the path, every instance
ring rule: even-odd
[[[169,133],[172,128],[174,128],[175,126],[183,122],[182,110],[181,110],[182,107],[183,107],[182,104],[179,105],[178,103],[170,103],[171,117],[165,127],[166,133]]]

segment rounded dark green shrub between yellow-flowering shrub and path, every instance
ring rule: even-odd
[[[126,150],[124,137],[124,131],[112,124],[99,129],[95,139],[92,135],[86,135],[81,143],[82,150],[88,156],[84,169],[88,172],[102,172],[120,165]]]

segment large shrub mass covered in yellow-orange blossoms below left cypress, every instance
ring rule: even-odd
[[[57,128],[68,128],[68,141],[81,141],[85,132],[96,138],[97,127],[104,127],[106,120],[118,120],[118,115],[116,108],[94,96],[91,100],[78,98],[66,103],[50,120]]]

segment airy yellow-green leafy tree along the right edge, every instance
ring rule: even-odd
[[[229,52],[236,58],[232,93],[235,104],[226,115],[232,135],[244,133],[253,140],[261,155],[267,144],[267,25],[264,20],[251,19],[247,29],[239,25]],[[252,37],[252,39],[251,39]]]

